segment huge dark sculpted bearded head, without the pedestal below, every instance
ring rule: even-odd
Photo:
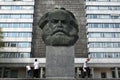
[[[78,24],[75,16],[64,8],[54,9],[39,21],[42,39],[50,46],[71,46],[78,39]]]

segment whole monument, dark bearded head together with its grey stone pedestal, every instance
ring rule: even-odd
[[[46,44],[46,78],[74,78],[74,44],[78,24],[72,12],[55,8],[39,20]]]

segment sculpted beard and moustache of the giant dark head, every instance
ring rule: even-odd
[[[73,45],[77,39],[77,30],[68,31],[65,28],[51,29],[47,24],[43,28],[42,38],[47,45],[69,46]]]

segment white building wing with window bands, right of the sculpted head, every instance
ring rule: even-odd
[[[86,19],[89,56],[106,59],[105,63],[110,59],[116,59],[113,63],[119,61],[120,0],[86,0]],[[106,66],[94,68],[96,78],[120,78],[120,66]]]

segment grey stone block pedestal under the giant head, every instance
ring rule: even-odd
[[[46,78],[74,78],[74,47],[46,47]]]

